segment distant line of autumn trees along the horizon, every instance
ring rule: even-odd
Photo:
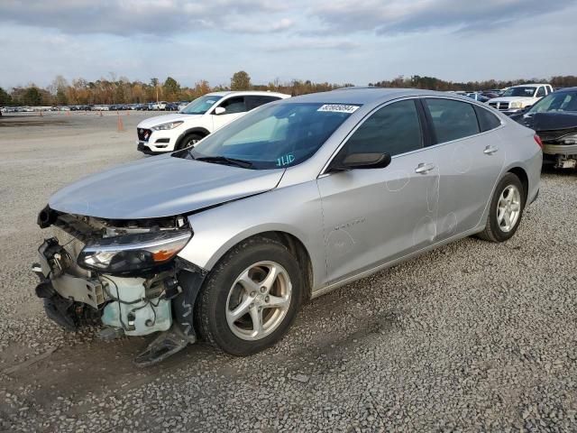
[[[484,81],[453,82],[435,77],[397,77],[390,80],[369,83],[369,86],[380,88],[427,88],[431,90],[487,90],[491,88],[508,88],[529,82],[548,82],[553,87],[566,88],[577,86],[575,76],[555,76],[549,79],[530,78],[515,80],[489,79]],[[243,70],[235,72],[228,85],[211,87],[208,81],[199,80],[192,87],[186,87],[168,77],[164,81],[151,78],[149,82],[131,81],[128,78],[117,78],[111,73],[109,78],[88,81],[75,78],[69,82],[58,76],[46,88],[34,84],[5,90],[0,88],[0,106],[67,106],[92,104],[131,104],[151,101],[190,101],[208,92],[218,90],[270,90],[286,93],[291,96],[307,93],[325,92],[334,88],[353,86],[351,83],[315,83],[310,80],[293,79],[280,82],[279,78],[268,84],[252,84],[250,75]]]

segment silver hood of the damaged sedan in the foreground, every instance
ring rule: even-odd
[[[107,219],[171,217],[274,189],[283,173],[160,155],[78,180],[49,206]]]

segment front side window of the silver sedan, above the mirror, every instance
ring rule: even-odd
[[[394,156],[422,147],[417,106],[411,99],[383,106],[371,115],[345,144],[345,152],[388,152]]]

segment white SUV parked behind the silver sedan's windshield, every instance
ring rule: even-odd
[[[184,149],[253,108],[287,97],[273,92],[208,93],[178,114],[159,115],[138,124],[138,150],[154,154]]]

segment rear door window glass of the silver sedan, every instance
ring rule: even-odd
[[[425,101],[433,118],[437,143],[480,133],[477,116],[471,104],[453,99],[426,98]]]

